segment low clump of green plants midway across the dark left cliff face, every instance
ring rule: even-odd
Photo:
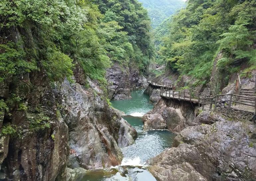
[[[51,127],[50,118],[44,113],[27,113],[26,119],[29,121],[29,129],[37,132]]]

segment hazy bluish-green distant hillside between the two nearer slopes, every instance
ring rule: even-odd
[[[174,14],[177,10],[185,7],[183,0],[139,0],[148,10],[155,29],[162,21]]]

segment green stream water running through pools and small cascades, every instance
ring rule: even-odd
[[[167,130],[143,131],[141,116],[153,109],[149,96],[143,90],[132,91],[131,99],[112,101],[112,106],[125,112],[123,118],[134,127],[138,137],[134,144],[122,148],[121,165],[88,171],[76,181],[156,181],[147,170],[147,160],[172,146],[174,134]]]

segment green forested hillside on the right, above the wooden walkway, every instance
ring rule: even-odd
[[[250,0],[189,0],[187,8],[171,18],[157,61],[167,61],[169,69],[196,78],[197,84],[209,81],[219,53],[220,72],[237,72],[243,62],[255,69],[255,11],[256,2]]]

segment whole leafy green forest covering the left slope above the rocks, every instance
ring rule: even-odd
[[[74,63],[100,81],[115,61],[143,71],[153,53],[147,11],[133,0],[104,2],[2,1],[0,81],[39,69],[59,81]]]

